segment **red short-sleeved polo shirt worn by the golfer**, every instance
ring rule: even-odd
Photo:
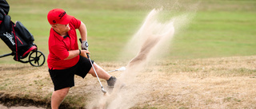
[[[50,29],[50,37],[48,40],[49,55],[47,59],[50,69],[66,69],[78,63],[79,56],[75,56],[70,60],[64,60],[69,56],[68,51],[78,49],[78,37],[75,29],[80,27],[81,21],[73,18],[69,25],[69,37],[61,37],[54,29]]]

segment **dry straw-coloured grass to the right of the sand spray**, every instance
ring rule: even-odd
[[[255,108],[256,56],[158,64],[149,107]],[[142,103],[145,105],[145,103]]]

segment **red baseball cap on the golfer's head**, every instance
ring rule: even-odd
[[[66,14],[66,12],[62,9],[50,10],[47,15],[47,19],[51,25],[54,25],[54,24],[67,25],[72,18],[74,17]]]

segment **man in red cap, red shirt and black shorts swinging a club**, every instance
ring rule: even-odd
[[[74,75],[84,78],[87,73],[96,76],[90,60],[86,56],[88,51],[86,25],[82,21],[66,14],[62,9],[50,10],[47,19],[51,25],[48,41],[49,55],[47,59],[54,92],[51,96],[52,109],[58,109],[62,100],[74,86]],[[82,49],[78,49],[76,29],[82,38]],[[106,73],[93,61],[98,77],[107,80],[110,87],[114,87],[116,78]]]

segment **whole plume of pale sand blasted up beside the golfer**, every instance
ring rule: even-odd
[[[153,74],[139,76],[143,69],[153,60],[168,53],[170,42],[175,33],[180,31],[193,18],[191,14],[181,14],[164,22],[158,20],[162,8],[151,10],[141,28],[126,45],[122,55],[134,55],[126,65],[126,71],[118,77],[112,91],[106,95],[99,95],[86,108],[128,109],[137,103],[143,103],[148,96],[146,91],[151,90],[150,80],[157,79]],[[144,96],[143,96],[144,95]]]

